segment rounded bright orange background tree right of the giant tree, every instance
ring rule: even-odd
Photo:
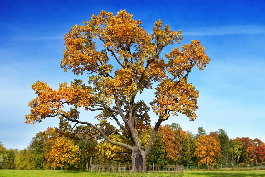
[[[197,138],[194,154],[198,157],[198,165],[215,164],[220,157],[220,145],[210,135],[202,135]]]

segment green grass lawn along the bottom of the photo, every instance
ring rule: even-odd
[[[110,177],[87,171],[0,170],[0,177]],[[184,177],[265,177],[265,170],[248,171],[185,171]]]

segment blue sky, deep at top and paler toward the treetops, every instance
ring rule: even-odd
[[[211,58],[203,72],[194,70],[189,76],[200,92],[198,118],[192,122],[179,115],[165,124],[179,123],[193,134],[198,127],[207,133],[222,128],[230,138],[248,136],[265,142],[265,1],[213,2],[1,0],[0,141],[4,147],[26,148],[37,132],[58,126],[56,118],[24,124],[30,112],[27,103],[36,97],[31,85],[41,80],[56,89],[74,78],[85,80],[59,66],[64,35],[92,14],[101,10],[116,14],[120,9],[140,19],[149,33],[158,19],[175,31],[182,30],[182,45],[200,40]],[[153,92],[146,90],[145,99],[151,101]],[[82,112],[82,119],[92,122],[93,117]],[[151,114],[151,120],[154,124],[156,116]]]

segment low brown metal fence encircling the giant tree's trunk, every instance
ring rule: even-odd
[[[145,172],[133,172],[132,165],[97,165],[91,164],[91,173],[112,173],[115,176],[143,176],[143,177],[166,177],[182,176],[184,174],[183,165],[151,165],[145,167]],[[139,170],[141,171],[141,170]]]

